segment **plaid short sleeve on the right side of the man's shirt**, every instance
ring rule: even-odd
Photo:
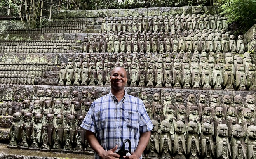
[[[145,133],[153,129],[153,124],[143,103],[139,106],[139,119],[139,132]]]

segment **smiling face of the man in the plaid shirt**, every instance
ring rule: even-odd
[[[113,90],[124,90],[127,80],[127,74],[124,68],[116,67],[112,70],[110,81]]]

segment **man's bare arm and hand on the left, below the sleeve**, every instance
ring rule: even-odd
[[[86,130],[86,140],[91,148],[101,157],[101,159],[119,159],[120,155],[114,153],[117,150],[117,145],[108,151],[104,150],[96,138],[96,134]]]

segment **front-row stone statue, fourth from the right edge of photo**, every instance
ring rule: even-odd
[[[201,134],[201,155],[204,159],[214,159],[214,140],[212,136],[212,127],[209,123],[202,123]]]

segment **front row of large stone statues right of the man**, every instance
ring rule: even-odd
[[[154,128],[150,141],[144,151],[146,159],[253,159],[256,157],[256,126],[250,125],[247,131],[239,124],[228,128],[226,124],[218,124],[217,135],[212,135],[209,123],[188,124],[177,121],[173,128],[166,120],[158,128],[158,122],[152,120]],[[173,129],[174,133],[169,130]],[[202,130],[199,134],[198,131]],[[160,131],[159,131],[160,130]],[[232,137],[228,134],[231,132]],[[243,138],[246,136],[245,138]]]

